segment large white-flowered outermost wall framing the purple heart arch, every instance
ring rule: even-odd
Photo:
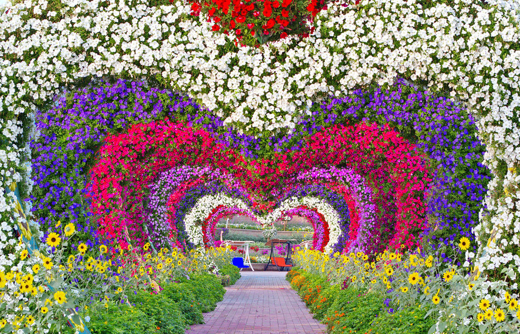
[[[26,0],[0,16],[0,177],[23,177],[22,131],[64,86],[138,77],[188,93],[253,133],[291,129],[312,101],[405,77],[466,103],[495,178],[476,228],[480,267],[520,266],[519,2],[364,0],[330,6],[316,32],[236,48],[181,2]],[[22,130],[22,127],[25,129]],[[27,178],[27,177],[25,177]],[[0,192],[2,221],[11,204]],[[518,270],[518,269],[516,269]]]

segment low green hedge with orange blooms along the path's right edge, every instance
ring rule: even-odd
[[[427,309],[421,305],[388,313],[383,293],[341,289],[302,269],[292,269],[287,280],[314,317],[327,324],[329,333],[426,334],[435,322],[433,316],[425,318]]]

